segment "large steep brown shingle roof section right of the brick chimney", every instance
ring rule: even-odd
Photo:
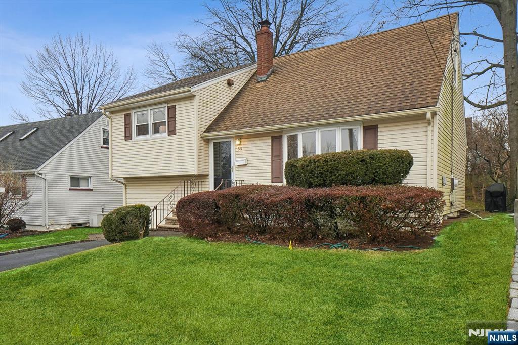
[[[424,22],[445,66],[457,13]],[[423,23],[276,57],[265,82],[243,86],[205,133],[436,106],[442,70]]]

